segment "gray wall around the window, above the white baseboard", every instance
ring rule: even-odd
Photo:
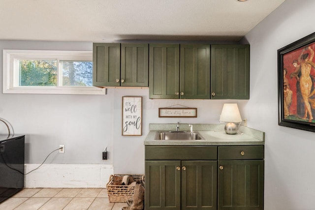
[[[2,49],[92,50],[88,42],[0,41]],[[3,94],[0,59],[0,118],[8,120],[16,134],[26,135],[26,163],[41,163],[59,145],[65,153],[53,153],[47,163],[112,163],[101,151],[112,141],[112,101],[109,95]],[[6,134],[3,123],[0,133]]]

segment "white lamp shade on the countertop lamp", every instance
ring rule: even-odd
[[[224,104],[220,116],[222,122],[241,122],[241,114],[237,104]]]

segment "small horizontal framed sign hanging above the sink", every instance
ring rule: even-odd
[[[196,118],[197,108],[158,108],[159,118]]]

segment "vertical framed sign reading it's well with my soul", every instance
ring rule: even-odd
[[[142,135],[142,97],[123,96],[123,136]]]

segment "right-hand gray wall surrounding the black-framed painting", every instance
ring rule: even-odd
[[[251,44],[244,111],[266,132],[265,210],[315,209],[315,133],[279,126],[277,109],[277,50],[314,32],[314,8],[314,0],[286,0],[243,40]]]

